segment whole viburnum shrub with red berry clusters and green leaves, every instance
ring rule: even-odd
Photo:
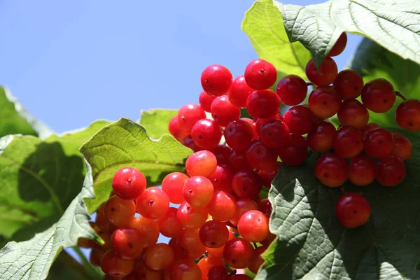
[[[49,135],[0,87],[0,279],[420,279],[418,3],[347,2],[256,1],[260,58],[140,123]]]

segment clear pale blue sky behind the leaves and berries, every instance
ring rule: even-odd
[[[197,103],[205,67],[238,76],[256,57],[240,29],[252,3],[2,0],[0,84],[56,132]],[[350,36],[339,68],[359,41]]]

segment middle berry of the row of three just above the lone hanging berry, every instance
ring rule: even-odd
[[[356,186],[367,186],[374,181],[376,164],[367,155],[358,155],[349,164],[349,181]]]

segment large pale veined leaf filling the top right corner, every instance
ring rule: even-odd
[[[420,5],[417,0],[341,0],[306,7],[275,1],[290,42],[300,41],[319,66],[346,31],[371,38],[420,64]]]

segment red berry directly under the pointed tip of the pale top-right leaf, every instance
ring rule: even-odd
[[[309,60],[304,69],[308,79],[318,87],[330,85],[337,77],[337,71],[337,64],[331,57],[325,57],[321,66],[319,66],[319,72],[316,71],[313,59]]]

